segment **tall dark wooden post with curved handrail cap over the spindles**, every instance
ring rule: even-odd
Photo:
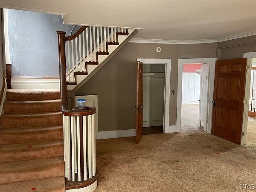
[[[85,28],[86,29],[86,28]],[[85,109],[68,110],[67,108],[67,80],[66,80],[66,54],[65,54],[65,35],[66,32],[57,31],[58,52],[59,52],[59,73],[61,90],[61,110],[65,116],[87,116],[96,113],[96,108],[86,107]],[[74,34],[75,35],[75,34]]]

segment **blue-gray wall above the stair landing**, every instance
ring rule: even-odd
[[[58,36],[70,35],[60,15],[8,10],[12,76],[58,77]]]

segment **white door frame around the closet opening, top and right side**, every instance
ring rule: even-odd
[[[164,115],[163,132],[169,133],[169,112],[170,112],[170,85],[171,85],[171,59],[160,58],[137,58],[143,64],[165,64],[165,93],[164,93]]]

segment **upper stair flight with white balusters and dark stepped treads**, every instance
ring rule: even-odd
[[[59,55],[64,56],[68,90],[77,90],[93,76],[136,33],[136,29],[83,26],[65,37],[58,33]]]

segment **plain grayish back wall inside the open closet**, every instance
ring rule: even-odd
[[[163,125],[164,73],[143,74],[143,127]]]

